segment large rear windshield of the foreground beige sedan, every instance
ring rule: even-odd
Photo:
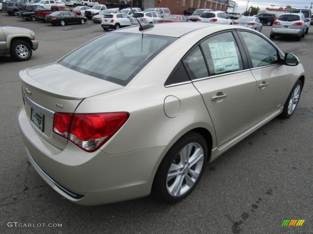
[[[58,61],[74,71],[127,85],[177,38],[139,33],[107,33]]]

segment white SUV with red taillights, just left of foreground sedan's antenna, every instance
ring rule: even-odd
[[[104,29],[104,31],[108,31],[109,28],[119,29],[121,27],[127,27],[130,25],[131,17],[124,13],[105,14],[101,22],[101,27]]]

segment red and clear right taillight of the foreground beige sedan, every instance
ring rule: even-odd
[[[127,112],[69,114],[55,113],[53,132],[87,152],[94,152],[107,142],[129,117]]]

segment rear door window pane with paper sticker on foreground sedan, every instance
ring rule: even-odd
[[[231,32],[225,32],[201,43],[210,75],[243,70],[237,43]]]

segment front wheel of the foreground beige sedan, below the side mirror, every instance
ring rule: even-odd
[[[295,112],[295,108],[297,107],[300,99],[301,91],[302,82],[301,80],[297,80],[285,102],[284,109],[280,114],[280,117],[288,119]]]

